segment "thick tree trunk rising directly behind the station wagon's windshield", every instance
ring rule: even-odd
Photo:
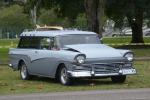
[[[105,0],[85,0],[88,29],[102,36]]]

